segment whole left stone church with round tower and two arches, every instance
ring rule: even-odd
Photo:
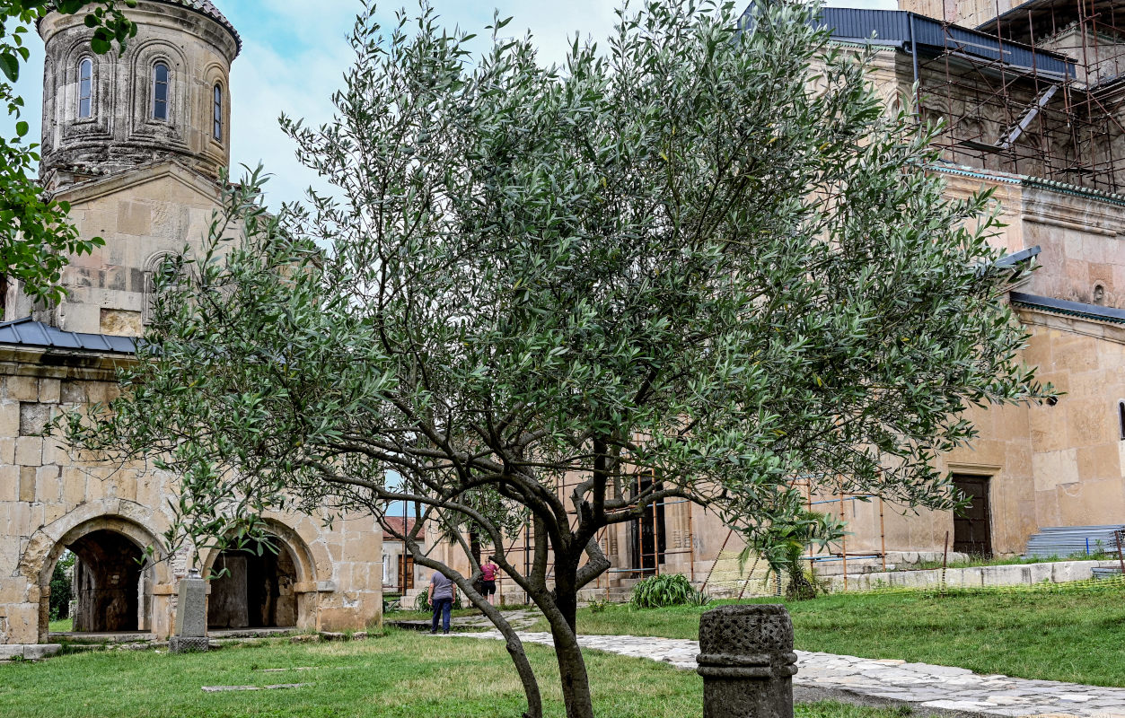
[[[173,477],[143,466],[74,460],[39,434],[56,412],[105,402],[132,360],[151,272],[198,241],[230,162],[231,63],[238,34],[206,0],[141,0],[123,56],[90,52],[82,16],[51,14],[46,43],[44,186],[71,204],[83,236],[106,245],[73,258],[57,306],[12,287],[0,324],[0,644],[48,640],[50,580],[76,555],[74,630],[165,638],[188,557],[168,555]],[[381,531],[369,517],[326,529],[271,515],[276,555],[210,551],[212,628],[361,629],[381,616]],[[155,560],[144,562],[152,547]]]

